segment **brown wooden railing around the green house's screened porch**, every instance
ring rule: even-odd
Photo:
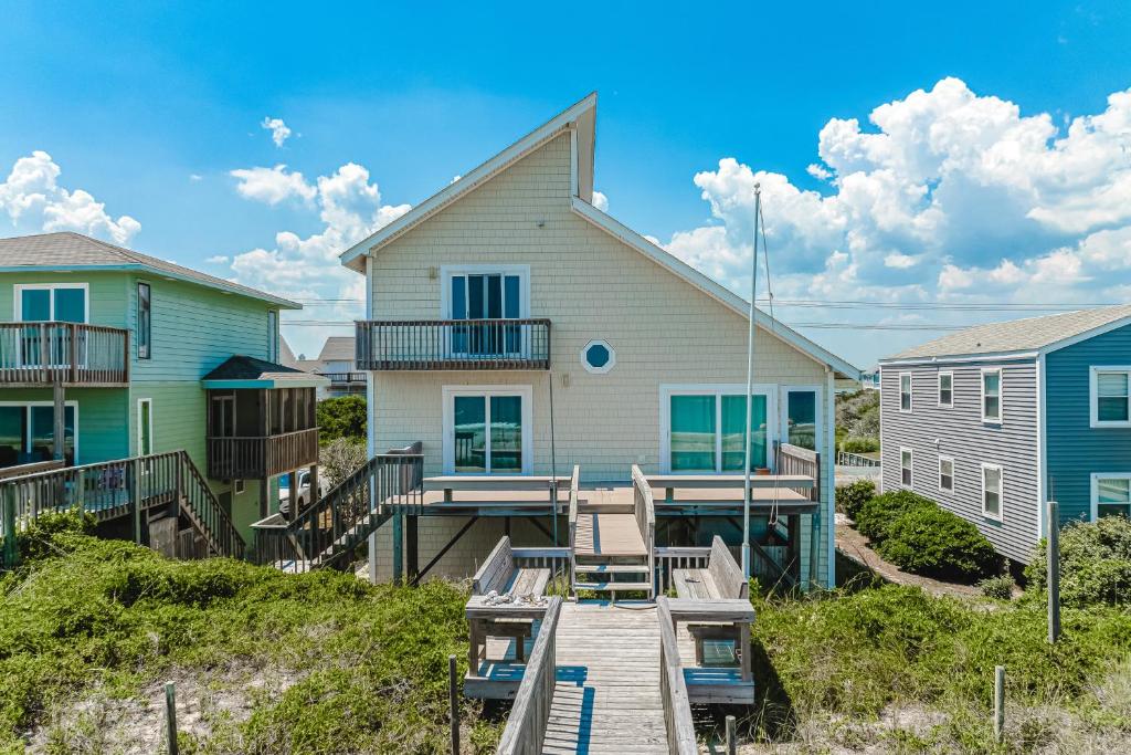
[[[261,480],[318,463],[318,428],[264,437],[209,437],[208,477]]]

